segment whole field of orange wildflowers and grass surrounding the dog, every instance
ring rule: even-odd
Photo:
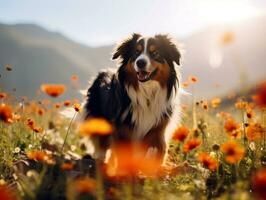
[[[12,66],[6,70],[12,76]],[[88,137],[113,127],[104,119],[79,124],[81,102],[58,100],[66,89],[43,84],[47,98],[39,100],[0,93],[1,200],[266,199],[265,82],[253,92],[182,104],[164,166],[144,159],[141,144],[116,146],[115,163],[94,160]]]

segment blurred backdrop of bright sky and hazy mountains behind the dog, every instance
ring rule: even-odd
[[[78,97],[116,66],[111,52],[133,32],[173,37],[183,81],[197,77],[188,90],[199,98],[266,79],[265,0],[1,0],[0,91],[38,98],[41,84],[62,83]]]

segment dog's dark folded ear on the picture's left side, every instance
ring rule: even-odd
[[[140,34],[133,33],[129,38],[125,39],[121,44],[119,44],[113,53],[112,59],[115,60],[121,57],[124,60],[130,57],[130,51],[134,48]]]

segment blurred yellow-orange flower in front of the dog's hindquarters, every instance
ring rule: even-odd
[[[103,118],[91,118],[80,125],[79,132],[84,136],[109,135],[113,132],[113,127]]]

